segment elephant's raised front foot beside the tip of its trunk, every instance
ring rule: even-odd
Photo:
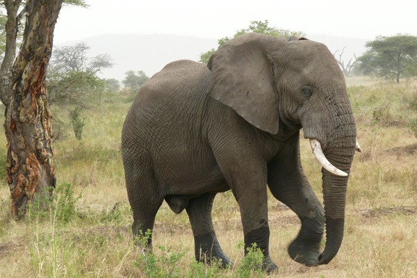
[[[288,246],[288,254],[291,259],[297,263],[302,263],[306,266],[318,265],[318,248],[312,247],[310,242],[296,238],[290,246]]]

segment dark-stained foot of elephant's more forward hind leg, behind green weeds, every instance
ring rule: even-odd
[[[208,265],[219,265],[229,268],[233,263],[223,253],[220,244],[213,232],[203,236],[195,236],[195,259]]]

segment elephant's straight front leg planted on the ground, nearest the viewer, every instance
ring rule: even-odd
[[[213,154],[239,204],[245,255],[247,248],[256,243],[264,255],[263,270],[272,272],[277,265],[269,254],[267,163],[253,126],[240,125],[241,118],[233,120],[236,120],[236,125],[233,122],[227,124],[224,133],[216,136],[222,140],[211,142]]]

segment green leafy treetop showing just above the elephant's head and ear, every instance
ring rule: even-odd
[[[295,31],[289,31],[286,29],[280,29],[277,27],[271,27],[268,26],[268,20],[265,20],[264,22],[261,21],[252,21],[250,22],[249,27],[240,29],[236,31],[233,38],[237,37],[238,35],[243,35],[244,33],[261,33],[266,35],[273,35],[275,37],[288,37],[291,35],[303,35],[302,32],[295,32]],[[229,37],[224,37],[218,40],[218,46],[225,44],[228,40],[231,40]],[[200,55],[199,61],[202,63],[208,63],[208,60],[210,60],[210,57],[215,53],[215,49],[211,49],[207,52],[204,52]]]

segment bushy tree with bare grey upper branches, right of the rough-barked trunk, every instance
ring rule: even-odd
[[[88,49],[84,42],[54,49],[47,75],[49,104],[68,111],[78,140],[82,138],[84,126],[82,111],[98,107],[101,100],[108,97],[108,83],[97,74],[113,65],[107,54],[88,57]],[[65,123],[55,119],[55,124],[58,124],[57,137],[60,138]]]

